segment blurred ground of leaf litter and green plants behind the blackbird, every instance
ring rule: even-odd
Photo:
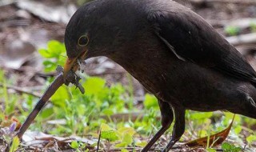
[[[256,0],[176,1],[205,18],[256,69]],[[62,42],[66,24],[78,7],[86,2],[0,0],[0,135],[7,134],[5,128],[13,124],[18,129],[38,97],[57,75],[56,66],[63,66],[66,52]],[[98,57],[86,61],[84,70],[86,74],[82,74],[82,79],[86,94],[81,96],[74,86],[71,89],[62,86],[30,127],[30,132],[23,139],[26,141],[23,148],[37,149],[52,141],[62,141],[63,138],[50,136],[42,140],[43,143],[31,142],[35,137],[45,138],[48,137],[46,134],[54,134],[60,137],[74,135],[74,140],[65,144],[57,142],[57,146],[53,142],[47,146],[49,150],[94,151],[99,130],[103,128],[108,134],[107,131],[113,130],[117,136],[105,137],[103,132],[102,140],[107,141],[102,142],[103,150],[140,150],[139,147],[144,146],[160,127],[156,99],[121,66],[108,58]],[[232,117],[232,114],[223,112],[187,112],[188,130],[182,141],[223,130]],[[253,151],[256,146],[255,129],[254,120],[237,116],[231,137],[227,140],[230,147]],[[128,135],[123,130],[128,130],[130,136],[126,137]],[[161,138],[156,148],[164,146],[170,133]],[[0,149],[6,147],[8,140],[0,138]],[[88,144],[84,144],[85,140]],[[218,149],[223,147],[213,150]],[[178,149],[182,150],[187,149]],[[196,150],[211,150],[211,147]]]

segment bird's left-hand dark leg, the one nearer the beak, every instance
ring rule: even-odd
[[[151,138],[150,142],[146,144],[142,152],[150,150],[150,147],[153,146],[154,142],[156,142],[158,138],[160,138],[162,134],[164,134],[166,130],[169,129],[171,122],[174,120],[174,113],[169,103],[158,100],[158,104],[162,115],[162,128],[158,130],[157,134],[155,134],[153,138]]]

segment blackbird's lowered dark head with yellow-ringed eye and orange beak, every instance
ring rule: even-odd
[[[120,48],[120,19],[116,18],[122,17],[102,1],[88,2],[76,11],[65,32],[65,79],[70,70],[78,70],[78,59],[108,56]]]

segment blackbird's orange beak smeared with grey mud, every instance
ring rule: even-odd
[[[82,54],[79,54],[77,57],[75,58],[67,58],[66,59],[66,63],[64,65],[64,70],[63,70],[63,77],[64,80],[66,80],[66,74],[70,71],[76,71],[79,68],[79,64],[78,64],[78,58],[84,60],[86,58],[86,52],[84,51],[82,52]]]

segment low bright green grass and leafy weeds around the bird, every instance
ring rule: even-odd
[[[45,59],[46,71],[53,71],[58,64],[63,64],[64,59],[59,54],[65,54],[65,47],[62,43],[51,41],[48,49],[39,50]],[[47,106],[42,110],[35,122],[30,126],[30,130],[39,130],[47,134],[58,136],[78,135],[97,139],[101,130],[101,142],[107,148],[120,148],[126,151],[125,147],[145,146],[150,134],[155,134],[161,127],[159,120],[160,112],[157,99],[146,94],[143,102],[143,109],[138,108],[133,103],[133,88],[122,86],[119,83],[106,86],[106,80],[98,77],[81,75],[82,86],[86,88],[86,93],[81,94],[74,86],[61,86],[60,89],[50,98]],[[46,86],[53,81],[53,78],[46,80]],[[0,123],[1,127],[10,126],[11,117],[19,122],[24,122],[26,116],[33,109],[38,98],[29,94],[10,94],[6,85],[11,85],[7,81],[5,71],[0,70]],[[43,91],[43,90],[42,90]],[[113,114],[141,114],[137,119],[132,120],[130,116],[114,119]],[[198,113],[186,111],[186,133],[181,141],[188,139],[209,136],[221,131],[229,125],[233,114],[230,113]],[[157,120],[158,118],[158,120]],[[65,124],[48,124],[50,120],[64,120]],[[250,127],[256,121],[251,118],[236,116],[230,136],[237,138],[240,142],[226,143],[222,145],[224,151],[239,151],[241,147],[249,146],[256,141],[256,134],[250,134],[247,138],[242,137],[241,132],[254,133]],[[172,127],[166,132],[170,134]],[[185,138],[184,138],[185,137]],[[96,143],[95,143],[96,144]],[[75,150],[85,150],[82,142],[71,142],[70,147]],[[239,149],[240,148],[240,149]],[[238,150],[239,149],[239,150]],[[207,146],[207,151],[214,151],[214,147]],[[215,150],[216,151],[216,150]]]

